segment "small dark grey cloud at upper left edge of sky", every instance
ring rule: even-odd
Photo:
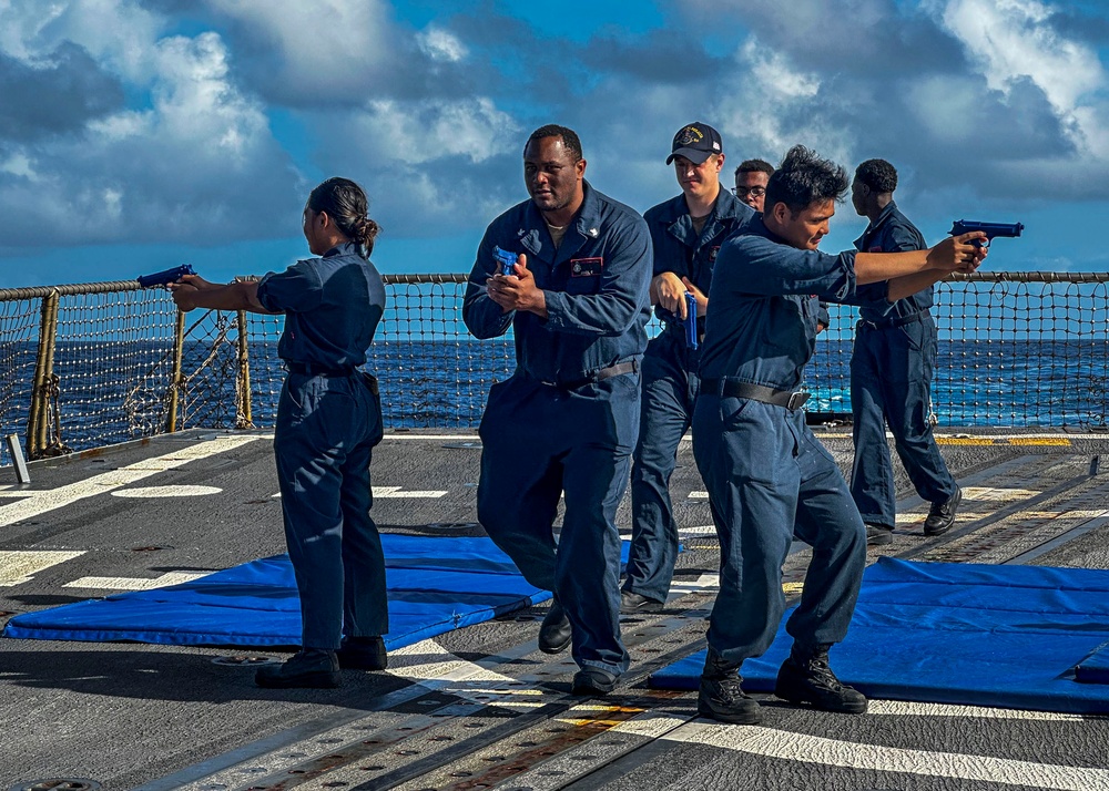
[[[0,138],[16,142],[74,132],[124,101],[119,79],[70,42],[35,63],[0,52]]]

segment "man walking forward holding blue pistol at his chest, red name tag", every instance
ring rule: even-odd
[[[651,239],[638,213],[584,174],[572,130],[531,134],[531,199],[486,230],[462,319],[476,338],[516,333],[516,371],[492,386],[481,420],[478,520],[529,583],[554,593],[539,648],[556,654],[572,643],[581,668],[573,694],[604,695],[629,660],[615,512],[639,434]],[[510,274],[495,248],[515,256]]]

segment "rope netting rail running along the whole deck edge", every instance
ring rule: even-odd
[[[513,367],[511,333],[469,337],[465,275],[386,278],[369,352],[390,428],[477,425]],[[976,273],[939,284],[934,411],[943,425],[1105,429],[1109,273]],[[849,414],[855,310],[833,306],[807,408]],[[273,424],[279,316],[180,314],[132,280],[0,290],[0,432],[31,459],[182,428]],[[651,331],[658,326],[652,322]],[[7,449],[0,460],[10,463]]]

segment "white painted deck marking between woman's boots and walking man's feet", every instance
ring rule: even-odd
[[[435,640],[423,640],[390,650],[388,671],[430,689],[441,689],[487,706],[533,709],[543,705],[540,700],[542,689],[510,686],[519,682],[509,676],[459,659]]]

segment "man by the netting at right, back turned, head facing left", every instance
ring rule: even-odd
[[[924,236],[894,203],[897,171],[885,160],[855,170],[851,202],[871,222],[855,247],[863,253],[927,248]],[[893,461],[886,424],[917,494],[932,503],[924,534],[940,535],[955,522],[963,492],[932,433],[932,376],[936,366],[933,286],[893,304],[864,305],[851,356],[851,411],[855,462],[851,494],[872,545],[893,542],[897,524]]]

